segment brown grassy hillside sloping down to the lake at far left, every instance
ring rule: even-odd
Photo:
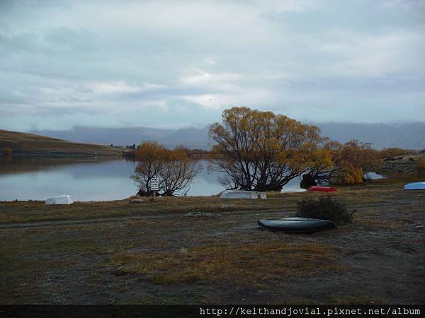
[[[108,146],[72,143],[34,134],[0,129],[0,151],[11,148],[13,155],[120,155]]]

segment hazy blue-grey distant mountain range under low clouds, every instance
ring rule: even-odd
[[[348,124],[315,123],[322,129],[323,136],[340,142],[351,139],[370,142],[374,148],[399,147],[408,149],[425,148],[425,123],[406,124]],[[97,128],[76,126],[71,130],[30,131],[33,134],[65,139],[78,143],[101,143],[126,146],[140,141],[158,141],[166,147],[183,145],[188,148],[210,149],[212,142],[208,139],[208,126],[202,128],[157,129],[147,127]]]

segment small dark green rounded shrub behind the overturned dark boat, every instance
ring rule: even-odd
[[[297,203],[296,216],[302,218],[319,218],[331,220],[338,225],[353,221],[353,212],[348,212],[346,204],[335,200],[332,196],[322,196],[318,199],[304,199]]]

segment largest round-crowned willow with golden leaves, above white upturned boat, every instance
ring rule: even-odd
[[[317,126],[281,114],[232,107],[210,126],[212,168],[227,189],[273,191],[312,167],[329,165]]]

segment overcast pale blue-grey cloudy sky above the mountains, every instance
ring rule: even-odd
[[[233,106],[425,122],[425,1],[0,1],[0,129],[203,126]]]

